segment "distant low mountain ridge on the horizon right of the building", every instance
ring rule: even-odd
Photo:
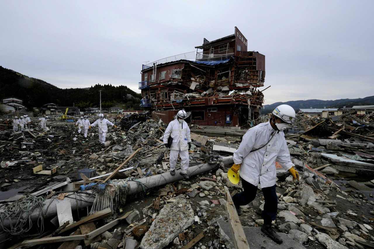
[[[320,100],[320,99],[308,99],[308,100],[296,100],[287,102],[276,102],[271,105],[264,105],[261,110],[262,114],[272,112],[278,105],[291,105],[295,111],[302,108],[338,108],[338,107],[353,107],[354,105],[374,105],[374,96],[358,99],[337,99],[337,100]]]

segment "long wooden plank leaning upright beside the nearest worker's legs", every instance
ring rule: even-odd
[[[236,249],[249,249],[248,241],[244,234],[242,224],[240,223],[239,216],[237,215],[234,202],[231,199],[229,188],[224,186],[224,190],[226,196],[226,213],[227,217],[229,218],[229,224],[234,238],[234,245]]]

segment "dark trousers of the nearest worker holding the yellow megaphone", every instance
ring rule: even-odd
[[[257,186],[250,184],[242,178],[242,186],[244,191],[235,194],[232,199],[235,206],[245,206],[255,199],[257,194]],[[278,197],[275,191],[275,185],[272,187],[263,188],[265,205],[262,211],[262,218],[264,224],[271,224],[276,218],[278,210]]]

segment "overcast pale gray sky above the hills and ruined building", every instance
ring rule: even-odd
[[[141,65],[234,33],[266,56],[265,104],[374,95],[374,1],[18,1],[0,65],[58,87],[138,90]],[[263,89],[265,88],[263,87]]]

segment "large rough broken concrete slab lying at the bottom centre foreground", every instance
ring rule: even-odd
[[[190,202],[179,199],[165,205],[140,243],[142,249],[164,248],[194,222]]]

